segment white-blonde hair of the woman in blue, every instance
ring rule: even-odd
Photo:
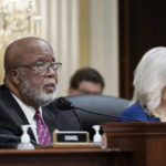
[[[134,74],[132,103],[139,103],[151,115],[159,117],[156,111],[166,85],[166,48],[158,46],[146,52]]]

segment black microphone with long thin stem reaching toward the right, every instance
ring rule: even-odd
[[[69,111],[69,110],[72,110],[72,108],[77,108],[77,110],[81,110],[83,112],[86,112],[86,113],[90,113],[90,114],[95,114],[95,115],[101,115],[101,116],[106,116],[106,117],[111,117],[111,118],[122,118],[122,120],[129,120],[129,121],[135,121],[135,122],[142,122],[139,120],[136,120],[136,118],[129,118],[129,117],[123,117],[123,116],[115,116],[115,115],[106,115],[106,114],[101,114],[101,113],[94,113],[94,112],[91,112],[91,111],[87,111],[87,110],[84,110],[82,107],[77,107],[77,106],[74,106],[72,104],[72,102],[68,101],[65,97],[59,97],[56,100],[56,106],[63,111]]]

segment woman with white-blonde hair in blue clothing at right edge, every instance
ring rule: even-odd
[[[134,74],[134,95],[121,116],[143,122],[166,122],[166,48],[144,54]],[[129,120],[120,120],[129,122]]]

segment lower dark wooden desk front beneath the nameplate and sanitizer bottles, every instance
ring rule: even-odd
[[[129,166],[131,157],[111,148],[0,149],[0,166]]]

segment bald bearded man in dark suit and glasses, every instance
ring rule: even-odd
[[[4,84],[0,86],[1,148],[15,148],[20,142],[18,137],[22,135],[21,126],[25,124],[32,126],[29,129],[30,138],[42,144],[34,118],[37,112],[46,124],[50,136],[54,129],[81,129],[72,111],[62,112],[55,106],[60,66],[61,63],[55,62],[51,45],[42,39],[23,38],[7,48]]]

